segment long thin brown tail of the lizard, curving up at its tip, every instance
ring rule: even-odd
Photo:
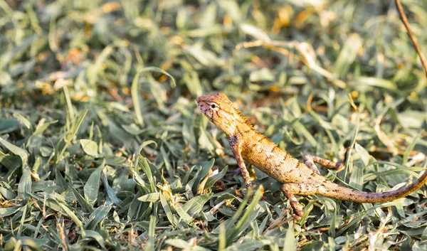
[[[427,171],[424,171],[423,175],[418,178],[411,185],[399,188],[395,191],[386,191],[382,193],[369,193],[356,191],[344,186],[339,186],[332,181],[325,183],[325,191],[321,189],[319,194],[326,197],[337,198],[342,201],[353,201],[359,203],[380,203],[386,201],[394,201],[397,198],[402,198],[410,195],[414,191],[421,188],[424,183],[427,181]]]

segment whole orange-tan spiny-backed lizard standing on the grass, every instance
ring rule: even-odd
[[[251,180],[243,160],[284,183],[283,192],[290,201],[297,218],[302,216],[302,206],[297,202],[295,195],[321,195],[342,201],[379,203],[408,196],[427,181],[427,171],[425,171],[417,181],[396,191],[367,193],[339,186],[321,176],[313,167],[311,159],[328,168],[341,167],[342,164],[333,164],[331,161],[314,156],[309,156],[306,164],[298,161],[253,129],[223,93],[204,95],[198,97],[196,101],[206,117],[227,135],[246,187],[251,186]]]

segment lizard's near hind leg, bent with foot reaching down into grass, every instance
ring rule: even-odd
[[[302,205],[298,202],[295,195],[312,195],[315,194],[317,188],[310,184],[306,183],[284,183],[282,186],[282,191],[285,193],[286,198],[290,203],[290,206],[294,210],[295,218],[300,220],[302,218]]]

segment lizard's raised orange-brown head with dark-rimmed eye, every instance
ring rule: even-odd
[[[200,96],[196,99],[196,102],[201,112],[221,131],[227,136],[234,134],[236,122],[241,118],[241,115],[225,94],[218,92]]]

